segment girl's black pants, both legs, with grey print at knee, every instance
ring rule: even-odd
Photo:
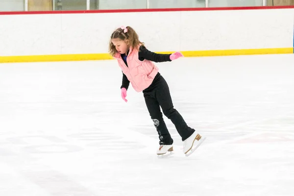
[[[166,80],[158,73],[152,84],[143,91],[147,109],[153,120],[159,135],[160,145],[171,145],[173,143],[171,134],[163,120],[163,114],[172,121],[182,141],[190,137],[195,129],[192,129],[184,121],[183,117],[173,108],[169,86]]]

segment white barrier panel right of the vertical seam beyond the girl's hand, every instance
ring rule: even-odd
[[[180,50],[291,48],[293,32],[294,9],[187,11]]]

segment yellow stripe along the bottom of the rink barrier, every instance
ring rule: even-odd
[[[158,52],[169,54],[174,51]],[[251,55],[251,54],[286,54],[294,53],[293,48],[279,49],[225,49],[225,50],[198,50],[181,51],[185,57],[197,56],[228,56],[228,55]],[[52,61],[87,61],[113,59],[108,53],[98,54],[56,54],[56,55],[31,55],[31,56],[0,56],[0,63],[23,63],[23,62],[52,62]]]

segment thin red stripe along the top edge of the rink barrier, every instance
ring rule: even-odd
[[[26,14],[90,14],[90,13],[124,13],[124,12],[175,12],[175,11],[215,11],[215,10],[258,10],[258,9],[290,9],[290,6],[255,6],[255,7],[207,7],[207,8],[162,8],[162,9],[115,9],[115,10],[69,10],[69,11],[19,11],[0,12],[0,15]]]

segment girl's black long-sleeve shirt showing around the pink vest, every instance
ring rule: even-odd
[[[144,59],[149,60],[149,61],[153,61],[156,63],[172,61],[170,59],[170,55],[171,54],[157,54],[155,52],[151,52],[148,49],[146,49],[145,46],[140,46],[140,49],[139,49],[139,60],[140,61],[144,61]],[[126,55],[121,54],[121,56],[123,58],[125,65],[128,66],[127,62],[126,62]],[[130,81],[127,79],[126,75],[123,73],[123,82],[122,82],[121,88],[128,89],[129,84],[130,84]]]

